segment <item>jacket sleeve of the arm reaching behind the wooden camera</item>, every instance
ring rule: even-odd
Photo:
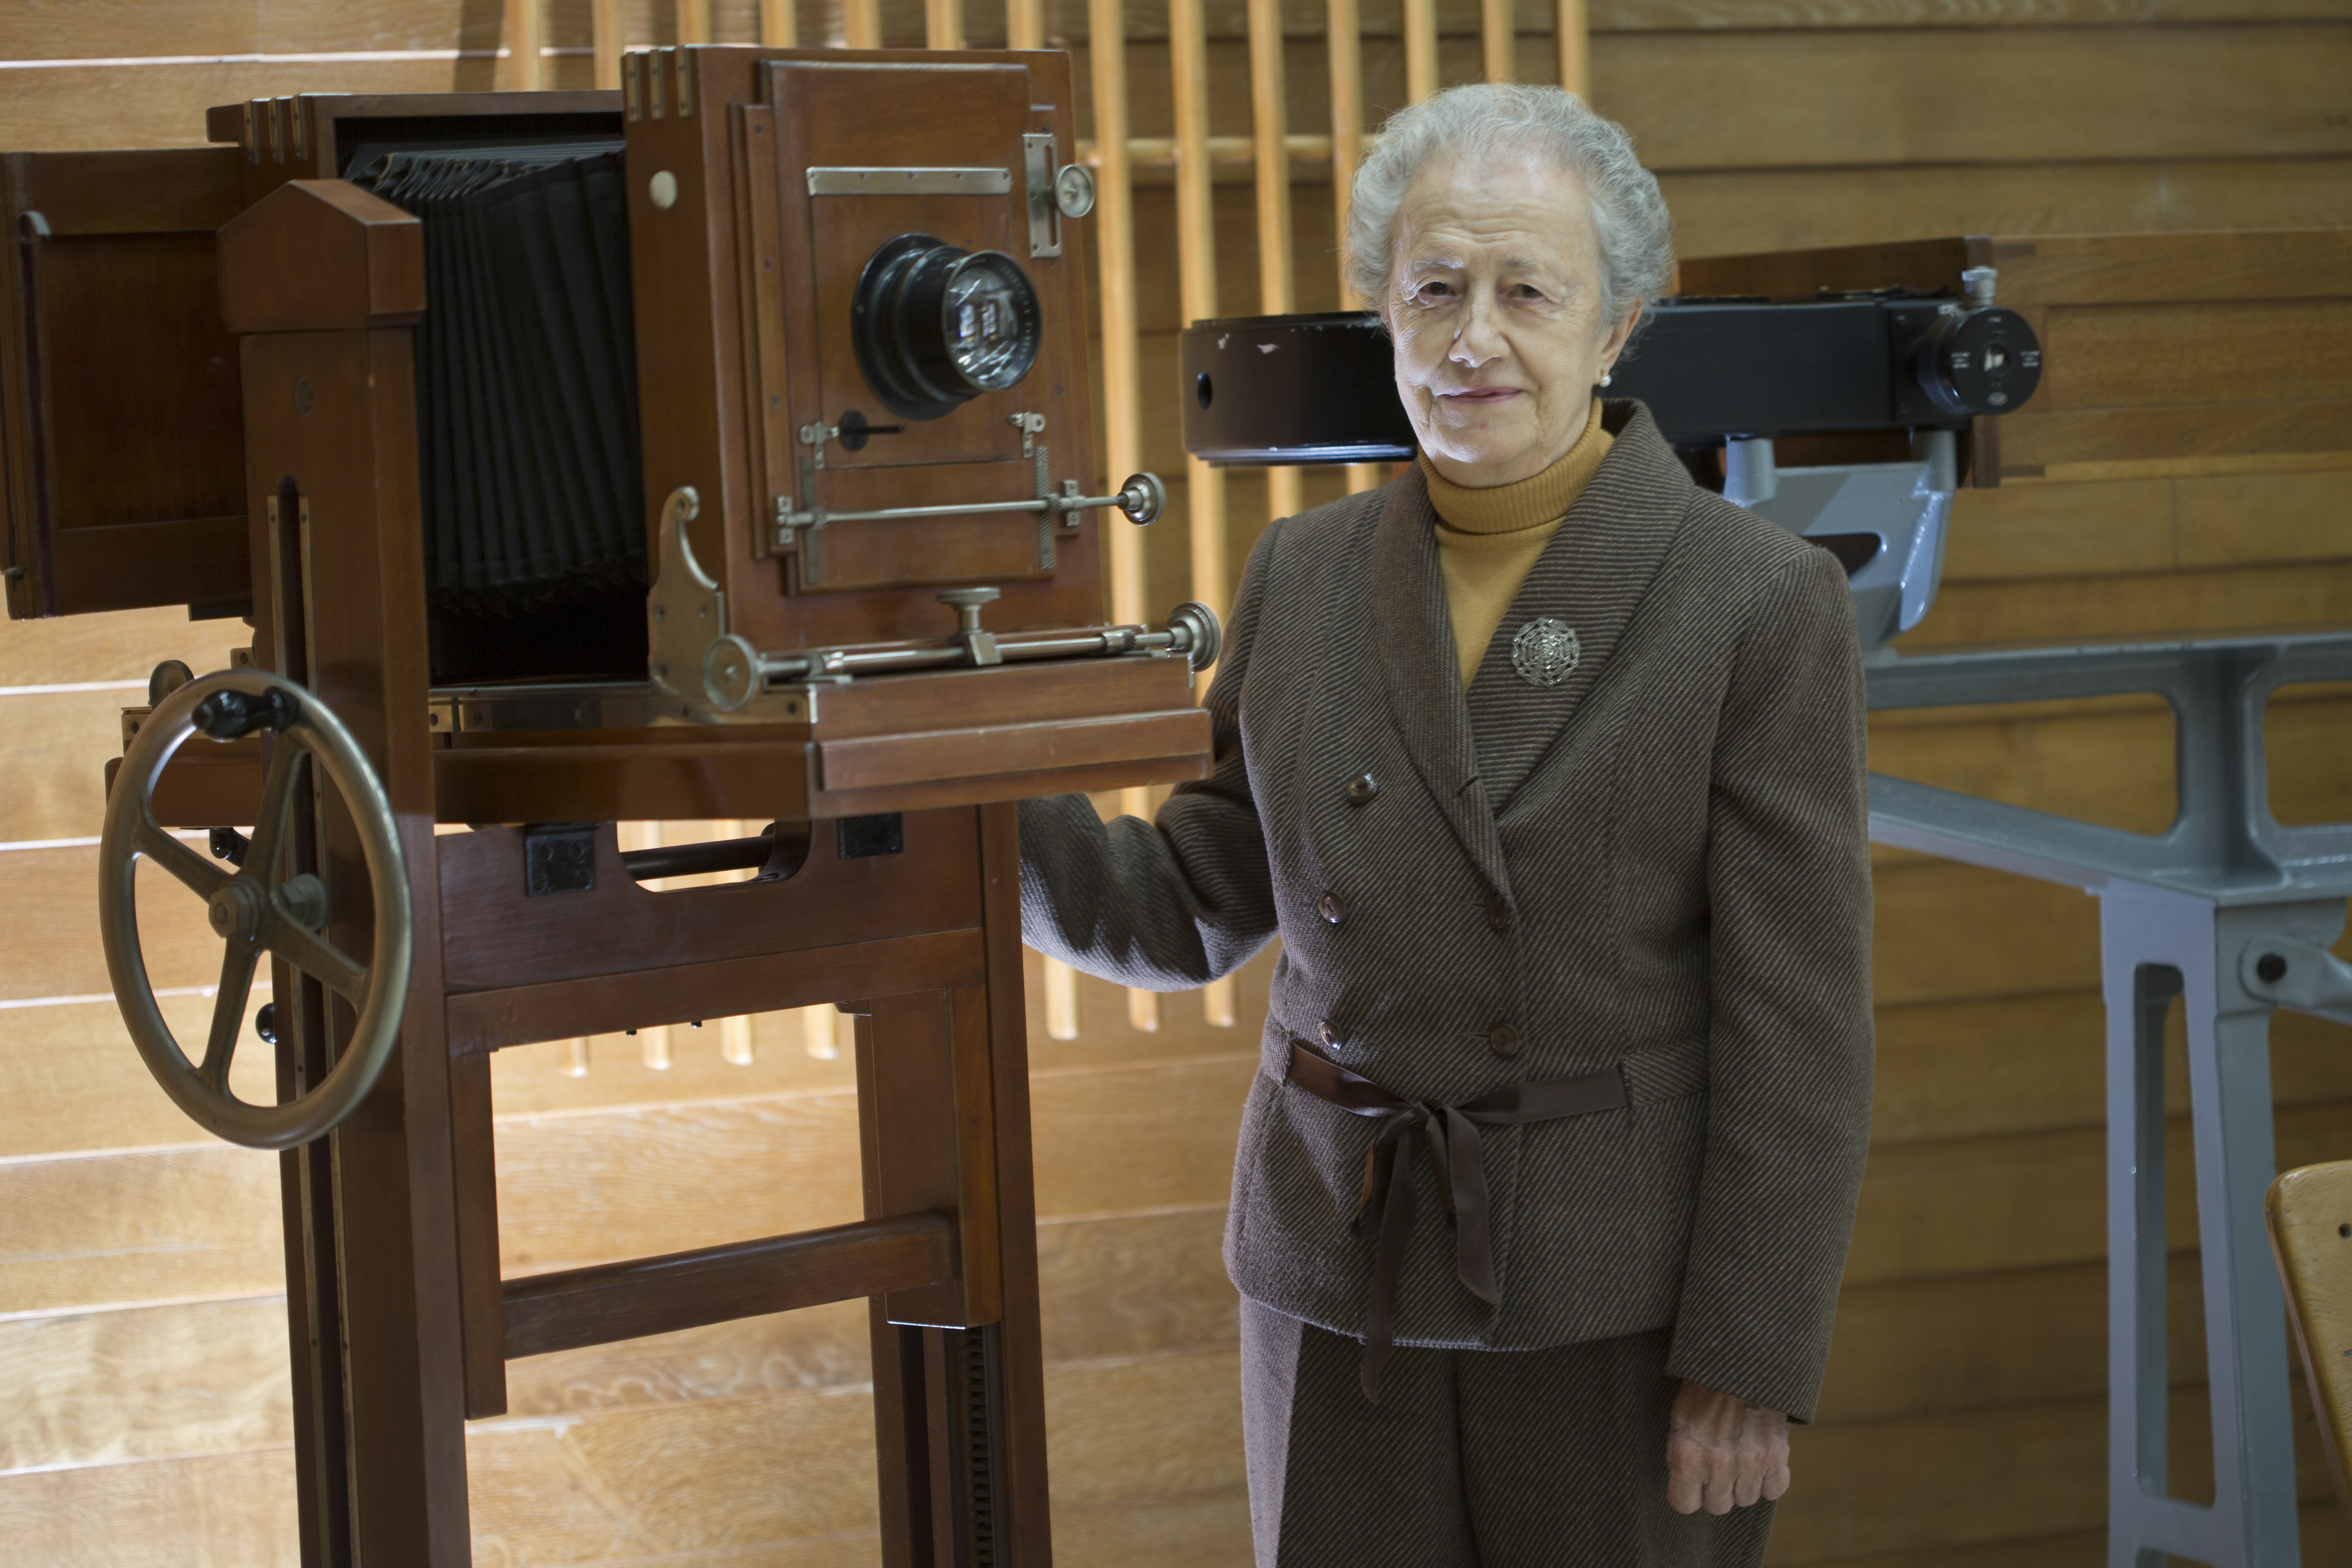
[[[1160,818],[1101,820],[1084,795],[1021,802],[1021,938],[1065,964],[1145,990],[1192,990],[1275,936],[1265,830],[1242,755],[1242,689],[1256,644],[1272,524],[1242,571],[1209,686],[1209,778],[1178,785]]]

